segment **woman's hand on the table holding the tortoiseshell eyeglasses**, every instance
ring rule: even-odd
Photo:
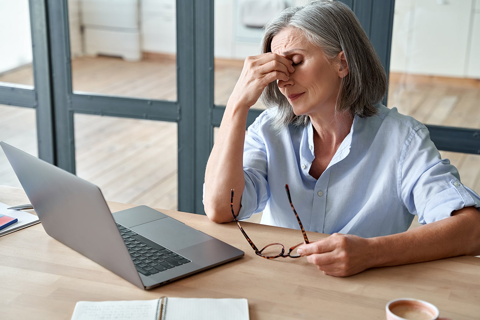
[[[348,276],[358,274],[374,265],[375,251],[372,239],[334,233],[328,238],[303,244],[302,256],[324,274]]]

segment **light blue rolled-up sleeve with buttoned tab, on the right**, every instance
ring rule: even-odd
[[[428,129],[420,127],[406,141],[401,161],[400,201],[421,224],[450,217],[467,206],[480,207],[480,197],[460,182],[455,166],[440,153]]]

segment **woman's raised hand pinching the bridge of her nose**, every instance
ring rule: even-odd
[[[272,81],[288,81],[295,71],[292,61],[272,52],[247,57],[230,99],[250,108]]]

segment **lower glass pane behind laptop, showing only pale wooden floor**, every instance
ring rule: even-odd
[[[177,210],[177,124],[75,114],[76,173],[108,201]]]

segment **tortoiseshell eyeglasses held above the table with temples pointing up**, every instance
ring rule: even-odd
[[[288,184],[285,184],[285,190],[287,191],[288,201],[290,201],[290,206],[292,207],[293,213],[295,214],[295,217],[297,217],[297,220],[299,222],[300,229],[301,229],[301,232],[303,234],[303,239],[305,240],[305,243],[310,243],[308,241],[307,234],[305,233],[305,229],[303,229],[303,226],[301,224],[299,215],[297,214],[297,211],[295,211],[295,208],[293,207],[292,198],[290,196],[290,190],[288,189]],[[288,250],[287,254],[285,254],[285,247],[281,243],[270,243],[270,244],[267,244],[266,246],[264,246],[264,248],[262,250],[258,250],[258,248],[253,244],[253,241],[250,240],[250,238],[247,236],[247,233],[240,226],[240,221],[237,219],[237,216],[235,216],[235,213],[233,212],[233,189],[232,189],[232,197],[231,197],[231,200],[230,200],[230,208],[232,209],[233,218],[237,222],[241,233],[243,233],[243,235],[245,236],[245,239],[247,239],[248,243],[250,243],[250,245],[252,246],[253,250],[255,250],[255,253],[257,255],[259,255],[259,256],[261,256],[262,258],[265,258],[265,259],[275,259],[275,258],[278,258],[278,257],[283,257],[283,258],[287,258],[287,257],[300,258],[301,257],[300,254],[298,254],[296,249],[297,249],[298,246],[303,244],[303,242],[291,247]]]

